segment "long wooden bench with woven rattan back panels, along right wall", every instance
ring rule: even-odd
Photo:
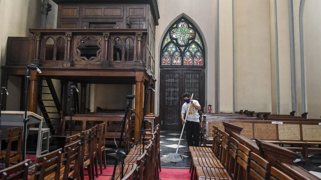
[[[241,134],[249,139],[262,139],[273,144],[296,146],[288,147],[288,149],[292,151],[302,151],[302,156],[305,160],[308,160],[309,150],[321,151],[319,147],[311,147],[321,145],[321,122],[208,120],[206,122],[207,132],[211,132],[213,125],[224,129],[223,121],[241,127]],[[209,134],[208,136],[211,135]]]

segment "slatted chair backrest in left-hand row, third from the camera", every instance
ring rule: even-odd
[[[81,147],[81,140],[75,141],[63,147],[65,155],[65,160],[63,163],[65,165],[63,180],[68,180],[70,177],[78,179]]]

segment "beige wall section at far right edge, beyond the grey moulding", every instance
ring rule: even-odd
[[[306,0],[303,14],[306,97],[309,118],[321,116],[321,0]]]

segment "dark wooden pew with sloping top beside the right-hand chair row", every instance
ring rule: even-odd
[[[245,145],[251,152],[263,157],[271,166],[279,169],[293,180],[319,180],[319,178],[294,164],[293,161],[298,157],[296,153],[260,139],[256,139],[256,142],[254,142],[241,134],[242,127],[227,122],[223,123],[225,132],[229,133],[231,137]]]

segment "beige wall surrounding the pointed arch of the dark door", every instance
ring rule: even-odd
[[[190,17],[203,33],[203,40],[206,41],[206,90],[205,103],[215,104],[215,46],[216,46],[216,0],[191,0],[187,3],[186,0],[159,0],[158,4],[160,19],[159,25],[156,27],[156,97],[159,94],[159,51],[164,32],[168,26],[173,23],[175,18],[182,13]],[[159,112],[159,97],[155,101],[155,114]],[[215,109],[213,107],[213,109]]]

